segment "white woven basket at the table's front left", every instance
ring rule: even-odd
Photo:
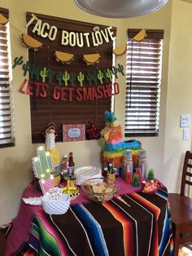
[[[60,201],[52,201],[50,194],[46,194],[41,198],[41,205],[46,214],[65,214],[70,205],[70,196],[61,194]]]

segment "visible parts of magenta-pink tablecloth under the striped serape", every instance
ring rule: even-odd
[[[117,192],[117,196],[120,194],[130,193],[133,191],[138,191],[141,188],[133,188],[133,186],[124,183],[123,179],[118,177],[116,181],[120,184],[120,190]],[[34,196],[42,196],[41,192],[37,189],[34,189],[33,186],[30,188],[26,188],[22,195],[22,198],[34,197]],[[72,204],[79,204],[89,202],[85,196],[81,193],[73,200]],[[31,221],[33,219],[33,215],[37,214],[38,211],[41,211],[41,205],[26,205],[23,200],[20,203],[20,210],[17,214],[17,217],[13,219],[13,227],[9,236],[7,237],[7,248],[6,248],[6,256],[14,255],[15,251],[20,248],[24,241],[28,240],[29,229],[31,226]]]

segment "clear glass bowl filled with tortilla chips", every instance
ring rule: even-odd
[[[103,204],[110,201],[116,195],[120,186],[111,179],[94,178],[81,183],[81,189],[90,201]]]

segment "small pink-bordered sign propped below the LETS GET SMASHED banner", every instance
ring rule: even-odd
[[[63,125],[63,142],[85,140],[85,124]]]

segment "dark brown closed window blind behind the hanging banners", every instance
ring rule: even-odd
[[[27,13],[27,21],[31,19],[32,13]],[[107,26],[98,24],[89,24],[85,22],[80,22],[76,20],[67,20],[57,17],[52,17],[48,15],[35,14],[38,19],[42,22],[47,22],[48,24],[55,25],[58,29],[57,37],[61,38],[62,29],[67,30],[68,33],[91,33],[94,27],[99,27],[99,29],[105,29]],[[113,42],[103,43],[100,46],[62,46],[59,40],[50,41],[48,38],[41,38],[37,36],[37,33],[32,33],[34,26],[31,24],[28,27],[28,35],[37,39],[39,42],[43,43],[43,46],[39,51],[33,51],[29,49],[28,60],[30,63],[38,65],[39,67],[51,68],[55,73],[68,71],[68,73],[81,72],[85,75],[87,73],[94,73],[98,70],[105,70],[106,68],[111,68],[112,66],[112,49]],[[114,36],[116,35],[116,29],[112,28],[114,31]],[[63,51],[70,54],[74,54],[74,60],[70,64],[62,64],[55,60],[55,51]],[[83,60],[83,55],[99,53],[101,55],[98,64],[87,65],[85,60]],[[109,83],[109,82],[107,82]],[[35,86],[33,86],[33,95],[30,96],[30,106],[31,106],[31,126],[32,126],[32,140],[33,143],[44,142],[45,139],[42,136],[42,132],[46,130],[46,126],[50,122],[55,122],[56,127],[59,131],[58,140],[62,141],[62,126],[63,124],[86,124],[87,120],[92,120],[102,129],[104,126],[104,111],[111,110],[111,97],[103,97],[103,99],[94,100],[82,100],[77,101],[75,97],[72,96],[72,100],[55,100],[53,98],[53,88],[54,85],[58,85],[56,76],[53,77],[52,82],[49,84],[49,97],[41,98],[35,97]],[[93,82],[92,86],[98,86],[99,81]],[[64,86],[64,84],[62,85]],[[72,87],[72,90],[76,90],[80,84],[78,83],[77,77],[74,81],[73,86],[70,84],[68,88]],[[83,87],[89,87],[89,83],[86,79],[83,81]]]

